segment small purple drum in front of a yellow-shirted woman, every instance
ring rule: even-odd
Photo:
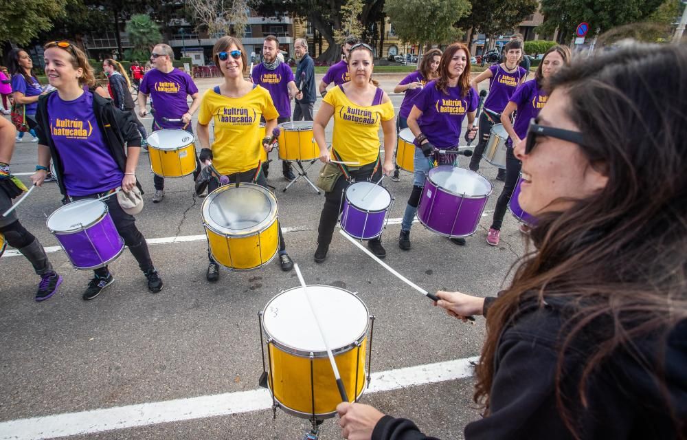
[[[374,239],[384,229],[391,194],[370,181],[357,181],[346,188],[341,211],[341,229],[361,240]]]

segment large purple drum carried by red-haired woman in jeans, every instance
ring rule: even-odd
[[[437,234],[458,238],[475,233],[493,187],[481,175],[450,165],[427,173],[418,219]]]

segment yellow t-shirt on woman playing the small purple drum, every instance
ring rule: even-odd
[[[339,87],[334,87],[324,102],[334,107],[332,144],[341,160],[360,162],[360,166],[374,162],[379,157],[379,125],[381,121],[394,119],[391,100],[361,107],[351,102]]]

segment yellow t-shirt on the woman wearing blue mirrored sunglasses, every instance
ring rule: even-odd
[[[212,164],[223,175],[243,173],[258,166],[262,137],[260,116],[279,116],[269,92],[255,87],[240,98],[229,98],[210,89],[201,98],[198,122],[214,122]]]

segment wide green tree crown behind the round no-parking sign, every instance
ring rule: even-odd
[[[544,23],[539,33],[553,33],[556,28],[570,35],[583,21],[590,33],[606,32],[618,26],[644,21],[664,0],[541,0]]]

